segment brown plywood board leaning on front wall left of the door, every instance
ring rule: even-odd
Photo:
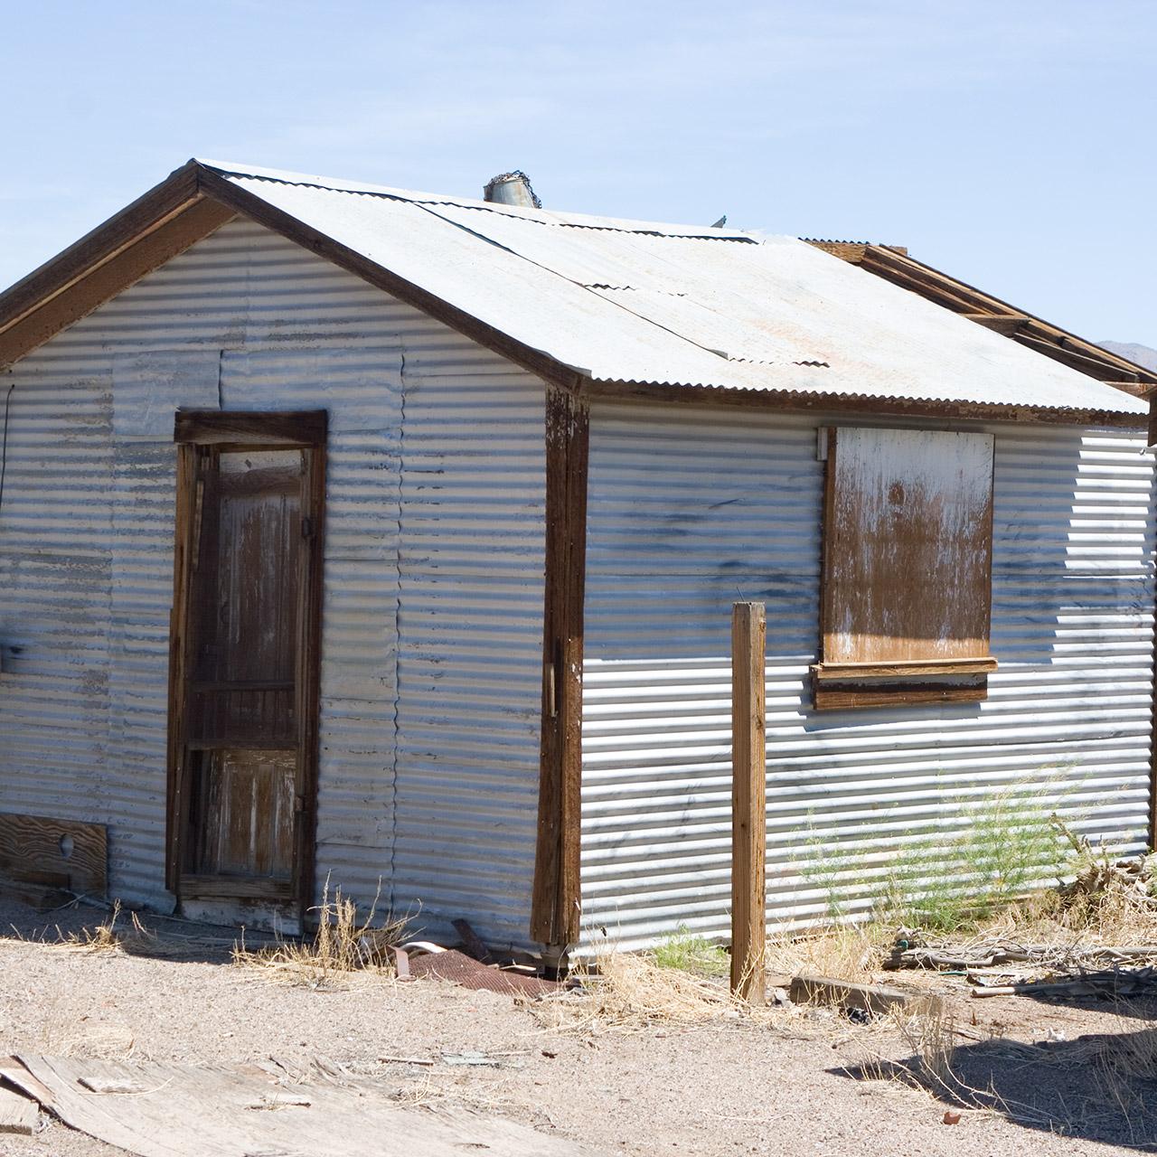
[[[0,875],[16,883],[103,898],[108,858],[103,824],[0,812]]]

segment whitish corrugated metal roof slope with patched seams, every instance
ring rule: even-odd
[[[200,163],[595,381],[1148,412],[795,237]]]

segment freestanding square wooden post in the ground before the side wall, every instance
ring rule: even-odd
[[[762,603],[731,610],[731,992],[764,1003],[767,840]]]

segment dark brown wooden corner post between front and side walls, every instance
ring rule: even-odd
[[[538,843],[530,934],[565,953],[578,939],[587,403],[546,391],[546,566]]]

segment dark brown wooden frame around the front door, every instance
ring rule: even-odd
[[[296,657],[296,703],[301,752],[301,810],[294,825],[290,902],[302,926],[314,897],[317,835],[317,761],[319,673],[322,654],[322,595],[325,535],[325,450],[329,418],[324,410],[230,411],[178,410],[174,421],[177,443],[176,541],[172,570],[172,610],[169,627],[169,731],[165,778],[165,887],[178,902],[189,795],[187,679],[191,664],[191,563],[197,550],[197,507],[200,501],[200,462],[207,448],[218,451],[309,450],[302,486],[303,550],[299,599],[301,647]],[[224,894],[214,892],[214,894]],[[260,900],[261,886],[238,889],[241,899]]]

